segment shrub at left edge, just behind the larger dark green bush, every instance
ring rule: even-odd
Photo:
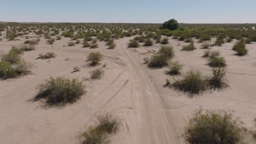
[[[21,62],[20,53],[17,51],[9,51],[8,53],[1,53],[1,61],[8,62],[10,64],[16,64]]]

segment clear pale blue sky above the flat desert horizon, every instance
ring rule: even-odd
[[[5,22],[256,23],[255,0],[0,0]]]

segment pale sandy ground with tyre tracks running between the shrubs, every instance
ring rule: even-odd
[[[78,143],[80,131],[94,124],[95,116],[113,112],[122,120],[122,126],[112,136],[112,143],[184,143],[184,127],[188,117],[196,109],[229,110],[240,117],[248,129],[255,129],[256,118],[256,43],[248,44],[249,55],[238,57],[232,51],[232,43],[213,47],[225,57],[229,87],[221,91],[208,91],[197,97],[166,88],[166,68],[148,69],[143,57],[152,55],[160,48],[127,49],[131,39],[115,40],[117,47],[107,49],[103,41],[99,48],[82,48],[82,44],[67,45],[69,38],[56,40],[53,50],[57,57],[50,60],[36,59],[39,53],[51,51],[45,39],[36,45],[35,51],[25,52],[22,57],[34,64],[32,74],[16,79],[0,81],[0,140],[1,143]],[[25,41],[0,41],[0,51],[9,51],[12,45]],[[178,46],[178,43],[181,44]],[[211,75],[204,50],[181,51],[183,42],[170,39],[176,51],[174,60],[184,64],[183,72],[199,69]],[[195,43],[197,48],[201,44]],[[103,79],[85,81],[86,94],[72,105],[62,108],[43,107],[42,101],[32,103],[35,87],[53,76],[89,78],[94,68],[85,67],[91,51],[100,51],[101,65],[107,64]],[[65,61],[69,58],[69,61]],[[72,73],[73,67],[80,71]]]

